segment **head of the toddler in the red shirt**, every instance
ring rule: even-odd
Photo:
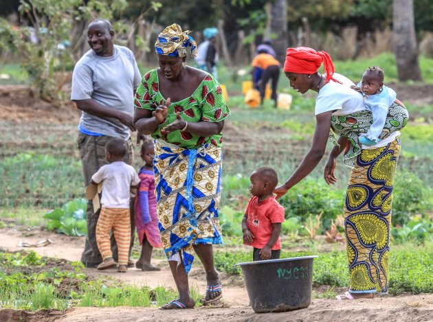
[[[249,192],[253,196],[269,196],[278,184],[278,174],[274,168],[260,167],[252,172],[249,180],[251,181]]]

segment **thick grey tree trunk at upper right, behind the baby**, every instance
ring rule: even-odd
[[[401,82],[405,80],[422,80],[418,65],[413,0],[394,0],[393,23],[399,80]]]

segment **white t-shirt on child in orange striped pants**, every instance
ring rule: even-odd
[[[140,178],[131,165],[116,161],[102,167],[91,177],[102,182],[101,205],[106,208],[129,209],[131,185],[138,185]]]

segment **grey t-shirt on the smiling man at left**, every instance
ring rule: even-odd
[[[140,84],[140,71],[133,52],[114,45],[114,54],[101,57],[90,49],[74,67],[71,100],[92,98],[102,106],[133,114],[133,91]],[[80,127],[89,132],[129,139],[128,126],[118,119],[82,112]]]

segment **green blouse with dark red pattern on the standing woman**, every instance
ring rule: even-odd
[[[146,108],[154,111],[155,106],[161,100],[165,101],[166,97],[162,97],[161,93],[159,93],[158,73],[156,69],[152,69],[143,76],[142,82],[137,88],[134,106],[135,108]],[[177,112],[186,122],[220,122],[230,114],[221,86],[212,75],[208,74],[190,97],[186,97],[179,102],[172,102],[168,106],[166,122],[158,126],[155,132],[152,133],[152,137],[154,139],[164,139],[181,148],[188,149],[197,148],[203,143],[221,146],[223,141],[222,133],[211,137],[199,137],[187,131],[175,130],[164,137],[161,134],[162,128],[175,122]]]

